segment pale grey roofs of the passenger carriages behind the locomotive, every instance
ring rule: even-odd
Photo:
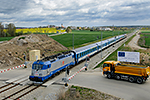
[[[121,36],[124,36],[124,35],[119,35],[119,36],[116,36],[116,38],[118,37],[121,37]],[[103,40],[102,41],[102,44],[108,42],[108,41],[111,41],[115,39],[115,37],[112,37],[112,38],[109,38],[107,40]],[[96,42],[96,43],[93,43],[93,44],[90,44],[90,45],[87,45],[87,46],[84,46],[84,47],[80,47],[80,48],[77,48],[77,49],[74,49],[73,51],[75,51],[76,53],[80,53],[82,51],[85,51],[85,50],[88,50],[89,48],[93,48],[93,47],[96,47],[97,45],[101,45],[101,41],[100,42]]]

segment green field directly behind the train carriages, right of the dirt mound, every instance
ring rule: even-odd
[[[129,33],[130,31],[102,31],[103,39],[110,38],[112,36]],[[62,45],[72,48],[73,46],[73,34],[74,34],[74,47],[83,46],[85,43],[92,43],[101,40],[101,31],[89,31],[89,30],[73,30],[72,33],[51,36],[54,40],[58,41]],[[99,37],[99,39],[97,38]]]

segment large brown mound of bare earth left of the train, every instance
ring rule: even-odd
[[[14,67],[24,63],[24,53],[29,60],[30,50],[40,50],[41,57],[68,50],[47,35],[30,34],[15,37],[0,44],[0,68]]]

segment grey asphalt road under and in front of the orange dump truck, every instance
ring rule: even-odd
[[[107,79],[102,72],[81,72],[69,84],[85,86],[125,100],[150,100],[150,80],[144,84]]]

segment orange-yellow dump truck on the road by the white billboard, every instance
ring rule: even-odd
[[[120,61],[105,61],[103,75],[107,78],[125,79],[139,84],[145,82],[150,75],[150,67],[142,65],[121,64]]]

